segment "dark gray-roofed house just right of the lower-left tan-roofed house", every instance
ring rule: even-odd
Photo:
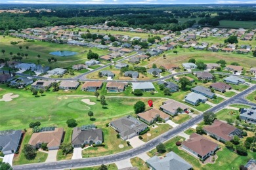
[[[102,129],[96,129],[95,125],[86,125],[74,127],[72,133],[72,146],[81,147],[85,144],[102,144],[103,133]]]

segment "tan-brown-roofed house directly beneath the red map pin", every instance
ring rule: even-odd
[[[158,120],[158,117],[160,117],[164,121],[169,120],[169,115],[158,109],[150,109],[146,112],[140,112],[139,114],[137,114],[137,116],[140,120],[148,125],[153,124],[154,121]]]

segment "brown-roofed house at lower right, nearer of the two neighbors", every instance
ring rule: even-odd
[[[182,149],[192,154],[192,156],[201,158],[202,160],[207,159],[218,148],[219,146],[217,143],[213,143],[206,137],[198,135],[197,133],[192,133],[189,139],[182,143]]]

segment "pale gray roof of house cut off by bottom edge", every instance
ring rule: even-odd
[[[154,156],[146,160],[146,164],[154,170],[188,170],[192,169],[187,161],[183,160],[175,152],[169,152],[164,158]]]

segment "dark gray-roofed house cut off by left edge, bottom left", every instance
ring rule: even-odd
[[[18,150],[22,130],[0,131],[0,151],[3,154],[13,154]]]

